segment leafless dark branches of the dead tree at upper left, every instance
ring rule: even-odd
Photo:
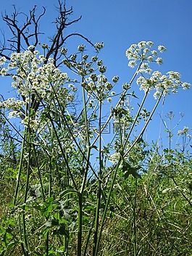
[[[78,36],[80,38],[83,38],[85,41],[88,42],[88,44],[91,44],[91,46],[94,47],[91,41],[89,41],[88,38],[81,35],[80,33],[70,33],[66,36],[66,28],[74,24],[75,22],[78,22],[81,19],[81,16],[78,17],[78,19],[70,20],[70,17],[73,14],[72,7],[70,7],[70,9],[66,9],[65,1],[64,3],[62,3],[62,1],[59,0],[58,3],[59,7],[57,7],[57,10],[59,12],[59,15],[54,20],[56,33],[54,34],[54,36],[51,37],[51,46],[46,52],[46,62],[48,61],[49,57],[53,57],[54,65],[56,66],[58,66],[57,62],[61,63],[61,49],[68,38],[72,36]],[[30,45],[35,46],[34,49],[36,49],[36,46],[38,46],[38,44],[40,43],[39,36],[42,34],[39,31],[39,23],[43,15],[45,15],[46,13],[46,8],[43,7],[43,12],[41,13],[41,15],[38,15],[36,17],[36,5],[33,7],[33,9],[30,10],[29,15],[18,12],[14,5],[13,9],[14,11],[11,16],[7,15],[6,12],[4,15],[2,15],[2,19],[7,24],[9,30],[12,33],[12,37],[6,40],[4,32],[1,31],[4,41],[3,43],[0,42],[2,46],[0,49],[0,56],[5,57],[7,60],[10,60],[10,55],[13,52],[20,53],[22,50],[25,51]],[[22,22],[21,25],[20,17],[23,15],[25,16],[25,22]],[[25,96],[22,96],[22,99],[25,101]],[[41,99],[37,100],[35,95],[32,96],[32,106],[35,111],[38,110],[38,108],[40,107],[40,102]]]

